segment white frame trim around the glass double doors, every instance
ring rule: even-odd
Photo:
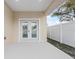
[[[28,41],[38,41],[39,40],[39,19],[38,18],[20,18],[19,19],[19,41],[21,42],[22,41],[22,39],[21,39],[21,21],[26,21],[26,22],[28,22],[28,21],[30,21],[30,22],[36,22],[37,21],[37,23],[38,23],[38,25],[37,25],[37,40],[34,40],[35,38],[32,38],[32,40],[26,40],[25,42],[28,42]]]

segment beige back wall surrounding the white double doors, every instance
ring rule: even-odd
[[[16,42],[20,39],[19,38],[19,19],[22,18],[36,18],[35,20],[39,21],[39,42],[46,42],[47,41],[47,25],[46,25],[46,16],[43,13],[38,12],[16,12],[15,14],[15,24],[14,24],[14,33]],[[27,19],[26,19],[27,20]]]

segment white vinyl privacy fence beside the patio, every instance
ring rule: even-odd
[[[48,38],[75,47],[75,21],[48,27]]]

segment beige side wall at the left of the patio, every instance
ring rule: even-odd
[[[6,40],[4,41],[5,44],[14,42],[13,23],[13,11],[6,4],[4,4],[4,36],[6,37]]]

